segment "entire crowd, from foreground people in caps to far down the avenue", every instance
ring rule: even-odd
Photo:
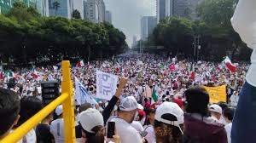
[[[221,63],[177,60],[157,54],[122,54],[112,60],[73,66],[73,77],[92,96],[96,94],[96,70],[120,77],[111,100],[76,105],[77,142],[230,142],[237,93],[247,64],[240,63],[235,73],[220,66]],[[15,112],[6,129],[15,129],[43,108],[40,83],[61,81],[61,69],[37,67],[9,74],[1,80],[1,98],[6,100],[3,105],[15,103],[5,107]],[[228,104],[210,106],[209,94],[202,85],[223,84],[228,86]],[[152,100],[154,90],[158,95],[156,102]],[[58,106],[20,142],[64,142],[62,112],[62,106]],[[116,135],[112,139],[104,137],[108,122],[115,123]]]

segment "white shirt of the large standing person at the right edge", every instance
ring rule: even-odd
[[[235,13],[231,19],[234,30],[240,35],[241,40],[247,43],[247,46],[253,49],[251,63],[247,72],[247,83],[256,87],[256,38],[255,38],[255,21],[256,13],[255,0],[240,0],[236,6]]]

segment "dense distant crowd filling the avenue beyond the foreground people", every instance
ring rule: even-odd
[[[123,54],[112,60],[93,61],[82,67],[73,66],[72,71],[73,77],[77,77],[91,94],[96,94],[96,70],[126,77],[129,81],[123,95],[132,94],[137,100],[150,97],[152,89],[156,89],[160,97],[171,95],[177,98],[183,97],[183,92],[191,85],[227,85],[228,101],[231,106],[236,106],[247,68],[246,63],[239,63],[236,72],[230,72],[220,62],[192,62],[157,54]],[[40,83],[51,80],[61,81],[60,67],[8,71],[3,75],[0,86],[13,89],[20,94],[20,98],[36,95],[42,99]]]

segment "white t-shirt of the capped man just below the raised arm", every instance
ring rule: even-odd
[[[117,134],[120,137],[121,143],[141,143],[142,137],[138,134],[137,130],[134,129],[130,123],[127,123],[121,118],[113,118],[111,120],[115,122]]]

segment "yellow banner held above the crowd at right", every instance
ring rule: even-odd
[[[218,103],[219,101],[227,101],[226,85],[218,87],[204,87],[210,96],[210,103]]]

